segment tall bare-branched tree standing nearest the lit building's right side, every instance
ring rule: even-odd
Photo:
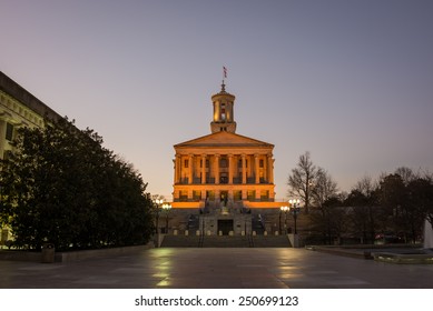
[[[306,151],[299,157],[297,165],[292,170],[287,181],[288,195],[301,198],[304,201],[305,213],[308,213],[316,177],[317,167],[313,164],[309,152]]]

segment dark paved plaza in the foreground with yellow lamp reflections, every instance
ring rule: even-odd
[[[0,261],[2,289],[433,289],[433,264],[392,264],[305,249],[151,249],[70,263]]]

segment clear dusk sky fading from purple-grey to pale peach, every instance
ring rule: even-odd
[[[0,70],[104,137],[171,199],[174,144],[237,133],[275,144],[276,198],[309,151],[341,190],[433,171],[433,1],[0,0]]]

